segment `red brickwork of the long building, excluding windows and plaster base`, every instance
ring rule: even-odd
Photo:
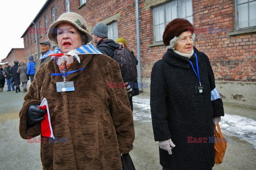
[[[152,8],[145,7],[145,1],[139,1],[140,11],[140,43],[141,43],[141,77],[150,78],[151,68],[156,61],[162,58],[166,52],[164,45],[153,46],[153,12]],[[169,2],[169,1],[166,1]],[[81,14],[87,21],[87,28],[91,29],[102,20],[117,13],[120,14],[118,20],[118,37],[127,40],[129,48],[137,55],[136,44],[136,20],[135,1],[92,1],[88,0],[85,5],[80,6],[78,0],[70,0],[70,11]],[[164,3],[164,1],[161,1]],[[156,3],[155,3],[156,4]],[[52,22],[51,8],[55,7],[56,19],[65,12],[65,1],[49,1],[45,10],[36,20],[42,22],[45,27],[44,15],[48,15],[49,25]],[[193,19],[195,28],[200,29],[228,29],[234,31],[235,23],[234,1],[193,1]],[[37,26],[38,27],[38,26]],[[25,56],[36,54],[34,41],[29,45],[25,34]],[[47,40],[46,34],[38,37],[38,41]],[[248,81],[255,82],[255,53],[256,53],[256,33],[229,36],[227,33],[196,32],[195,46],[209,56],[216,80],[223,81]],[[38,46],[39,51],[40,47]]]

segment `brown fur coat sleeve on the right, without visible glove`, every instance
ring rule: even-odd
[[[108,67],[110,81],[123,83],[119,65],[111,60]],[[134,141],[134,124],[130,102],[124,88],[107,88],[110,94],[110,112],[116,129],[119,150],[121,153],[130,152]]]

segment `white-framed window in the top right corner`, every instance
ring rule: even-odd
[[[246,0],[247,2],[239,2],[238,0],[235,0],[235,30],[245,30],[245,29],[252,29],[256,28],[255,25],[250,24],[250,12],[255,9],[250,8],[250,3],[256,3],[256,0]],[[239,6],[247,4],[247,27],[240,27],[239,28]],[[244,19],[244,18],[243,18]]]

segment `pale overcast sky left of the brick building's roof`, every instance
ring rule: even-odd
[[[20,38],[46,0],[3,1],[0,5],[0,61],[12,48],[24,48]]]

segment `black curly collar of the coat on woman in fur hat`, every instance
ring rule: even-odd
[[[198,62],[199,62],[200,57],[198,56],[198,52],[199,51],[196,49],[196,47],[194,47],[194,53],[197,54],[197,59],[198,59]],[[182,68],[185,68],[185,69],[189,69],[190,66],[191,66],[189,61],[193,62],[195,60],[195,55],[188,58],[188,57],[184,57],[184,56],[181,56],[181,55],[173,52],[173,50],[171,50],[171,49],[167,49],[167,52],[163,56],[163,60],[168,64],[178,66],[178,67],[182,67]]]

